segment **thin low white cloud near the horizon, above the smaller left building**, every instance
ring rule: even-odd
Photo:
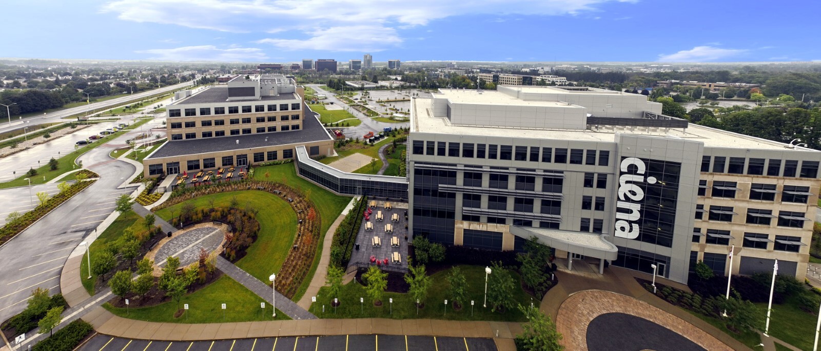
[[[264,61],[268,58],[259,48],[217,48],[213,45],[186,46],[181,48],[153,48],[136,51],[152,55],[151,60],[162,61]]]

